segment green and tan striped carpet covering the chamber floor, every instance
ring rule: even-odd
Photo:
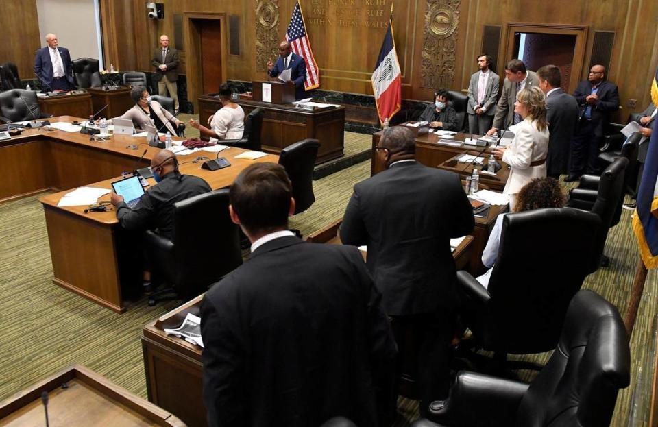
[[[345,135],[346,143],[369,143],[367,135]],[[362,162],[314,182],[317,202],[295,216],[291,227],[307,235],[341,218],[352,186],[369,176],[369,168],[369,162]],[[584,285],[616,304],[622,315],[639,256],[630,219],[631,212],[624,210],[622,221],[609,233],[606,253],[612,258],[611,266],[589,276]],[[145,397],[141,328],[179,303],[149,307],[142,299],[117,315],[56,286],[52,274],[38,196],[0,204],[0,400],[72,363],[86,365]],[[642,425],[648,416],[657,283],[655,272],[650,271],[631,340],[633,384],[620,393],[613,426]],[[400,399],[399,409],[395,426],[406,426],[417,417],[412,400]]]

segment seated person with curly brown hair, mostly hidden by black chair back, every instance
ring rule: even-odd
[[[564,206],[564,202],[560,184],[555,178],[535,178],[521,188],[521,191],[517,194],[514,212],[525,212],[526,210],[541,208],[561,208]],[[479,276],[477,280],[482,286],[485,286],[485,289],[489,286],[489,276],[491,275],[491,269],[493,269],[493,263],[498,258],[503,218],[504,215],[498,215],[498,218],[496,218],[493,230],[489,234],[487,246],[485,246],[482,253],[482,263],[488,270],[482,276]]]

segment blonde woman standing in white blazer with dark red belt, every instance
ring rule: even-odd
[[[533,178],[546,177],[548,154],[548,124],[546,96],[537,86],[521,90],[516,97],[514,112],[523,119],[509,127],[514,139],[507,147],[497,147],[493,156],[509,164],[509,178],[502,193],[509,195],[509,208],[516,210],[516,195]]]

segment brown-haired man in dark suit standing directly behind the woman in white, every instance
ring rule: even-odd
[[[546,94],[548,156],[546,175],[560,178],[569,173],[571,140],[578,123],[578,102],[560,88],[562,73],[558,66],[544,65],[537,70],[539,88]]]

